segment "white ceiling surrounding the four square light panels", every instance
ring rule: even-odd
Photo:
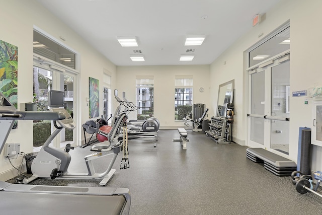
[[[192,65],[212,63],[253,28],[256,14],[280,0],[37,1],[115,65]],[[186,35],[206,39],[201,46],[184,46]],[[135,36],[139,46],[121,47],[120,36]],[[194,59],[179,61],[187,49],[195,49]],[[132,62],[133,50],[141,50],[145,61]]]

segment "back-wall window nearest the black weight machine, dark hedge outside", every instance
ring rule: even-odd
[[[175,87],[175,120],[183,120],[192,112],[193,78],[176,76]]]

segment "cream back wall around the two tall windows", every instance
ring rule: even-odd
[[[160,128],[184,127],[183,122],[175,121],[175,76],[193,75],[193,103],[203,103],[209,108],[208,116],[213,115],[211,107],[209,65],[187,66],[117,66],[117,86],[119,92],[126,92],[129,101],[135,102],[136,76],[153,76],[154,78],[154,117],[159,119]],[[205,91],[199,92],[203,87]],[[129,115],[135,119],[135,114]]]

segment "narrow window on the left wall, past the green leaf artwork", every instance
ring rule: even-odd
[[[109,119],[112,114],[111,73],[104,69],[103,74],[103,117]],[[109,121],[111,124],[111,121]]]

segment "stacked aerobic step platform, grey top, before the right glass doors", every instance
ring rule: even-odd
[[[277,176],[291,176],[296,163],[262,148],[248,148],[246,157],[253,162],[263,163],[264,168]]]

